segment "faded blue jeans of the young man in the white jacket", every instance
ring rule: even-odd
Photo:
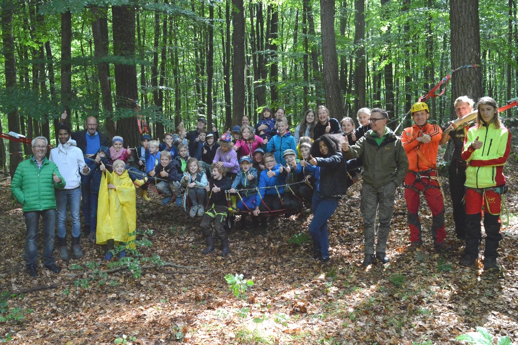
[[[72,237],[81,235],[81,188],[74,189],[56,189],[56,205],[57,205],[57,237],[65,238],[66,236],[66,206],[70,205],[70,220],[72,221]]]

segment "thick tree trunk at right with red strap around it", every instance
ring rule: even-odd
[[[450,1],[452,69],[480,65],[480,23],[478,0]],[[452,100],[465,96],[477,101],[482,96],[482,68],[465,68],[452,76]],[[452,102],[452,117],[453,102]]]

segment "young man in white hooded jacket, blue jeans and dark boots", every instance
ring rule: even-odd
[[[60,258],[68,260],[66,245],[66,206],[70,205],[70,219],[72,221],[72,251],[76,259],[83,256],[79,247],[81,235],[81,175],[88,175],[90,169],[84,162],[83,153],[76,146],[76,141],[70,138],[70,127],[61,125],[57,132],[59,144],[51,149],[49,160],[56,163],[57,168],[65,176],[67,185],[64,189],[56,189],[57,205],[57,239],[60,244]],[[81,175],[79,174],[81,173]]]

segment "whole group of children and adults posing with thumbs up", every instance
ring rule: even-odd
[[[455,101],[458,116],[471,112],[473,104],[469,98],[459,97]],[[254,127],[243,116],[241,126],[220,136],[216,128],[207,131],[207,121],[200,117],[195,130],[187,132],[182,123],[174,134],[165,133],[163,142],[144,134],[142,145],[136,149],[124,148],[124,139],[118,136],[110,144],[97,131],[94,117],[87,118],[85,130],[72,133],[64,124],[64,113],[59,144],[51,150],[49,159],[47,139],[35,138],[33,155],[19,164],[11,184],[13,194],[23,205],[28,273],[38,274],[36,239],[40,216],[44,220],[44,265],[55,273],[61,271],[52,256],[55,223],[60,258],[69,259],[67,204],[72,221],[71,254],[75,258],[83,255],[79,243],[81,208],[83,233],[92,243],[106,245],[106,260],[113,257],[114,244],[133,246],[135,186],[149,201],[150,184],[162,194],[163,205],[175,198],[176,205],[184,207],[190,217],[201,218],[200,228],[207,244],[203,254],[215,249],[215,239],[221,242],[221,255],[229,254],[227,218],[236,210],[245,211],[241,213],[242,227],[247,226],[246,213],[250,213],[249,226],[255,234],[265,236],[268,217],[276,211],[294,214],[312,209],[309,233],[313,257],[325,263],[330,259],[327,221],[348,187],[362,176],[364,266],[376,260],[390,261],[386,246],[396,188],[404,184],[409,249],[423,245],[418,214],[422,192],[433,215],[430,232],[434,247],[448,252],[451,246],[446,240],[436,164],[439,145],[449,139],[455,146],[449,170],[455,230],[457,237],[466,242],[461,264],[472,266],[478,259],[483,211],[487,234],[484,269],[496,268],[501,238],[500,200],[506,191],[502,167],[509,156],[510,133],[500,123],[498,106],[492,98],[481,98],[477,111],[477,125],[456,128],[452,123],[443,132],[438,125],[428,123],[427,104],[416,102],[411,108],[414,124],[398,137],[386,126],[389,114],[380,108],[358,110],[359,126],[355,128],[352,118],[339,122],[320,106],[316,114],[308,110],[291,132],[284,109],[277,109],[272,116],[271,109],[265,107]],[[135,166],[129,164],[131,160]],[[125,250],[119,255],[124,257]]]

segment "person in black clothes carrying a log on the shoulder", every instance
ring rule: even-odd
[[[474,101],[468,96],[461,96],[455,100],[454,107],[458,118],[464,117],[473,111]],[[454,129],[450,126],[444,131]],[[467,163],[462,159],[462,148],[464,146],[464,138],[469,129],[469,125],[464,124],[456,130],[452,130],[442,134],[439,141],[440,145],[444,145],[450,139],[453,139],[453,155],[448,167],[448,177],[450,183],[450,196],[453,205],[453,221],[455,222],[455,234],[458,239],[466,238],[466,205],[464,202],[464,194],[466,193],[464,183],[466,182]]]

